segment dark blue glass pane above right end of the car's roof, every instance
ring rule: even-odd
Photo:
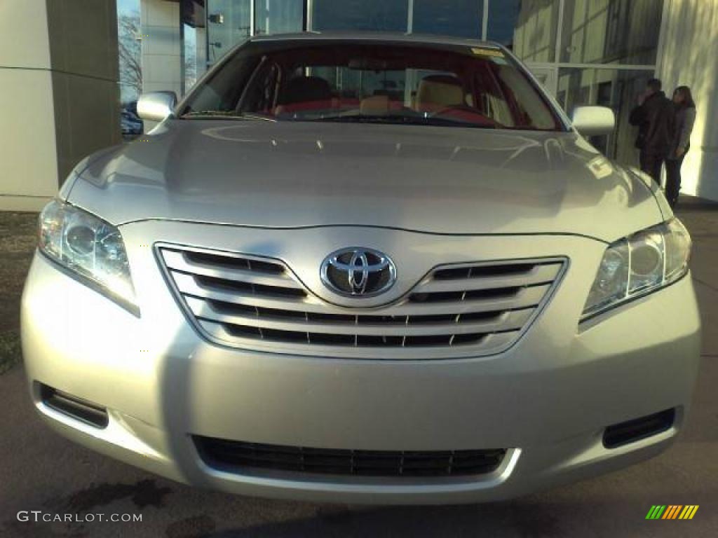
[[[411,32],[481,38],[482,0],[414,0]]]

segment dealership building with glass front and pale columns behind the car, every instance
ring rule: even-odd
[[[567,112],[612,108],[592,143],[623,164],[645,82],[688,85],[683,192],[718,200],[718,0],[1,0],[0,209],[39,209],[84,156],[131,143],[139,92],[181,97],[253,35],[336,30],[503,44]]]

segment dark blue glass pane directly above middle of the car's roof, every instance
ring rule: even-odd
[[[407,0],[314,0],[313,30],[406,32]]]

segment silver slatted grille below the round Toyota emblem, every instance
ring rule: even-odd
[[[383,359],[506,349],[536,316],[564,266],[560,258],[441,266],[395,303],[344,308],[309,293],[279,260],[174,245],[159,247],[159,254],[182,306],[211,341]]]

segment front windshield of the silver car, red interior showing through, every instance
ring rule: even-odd
[[[208,117],[562,129],[500,49],[401,42],[248,43],[180,110]]]

